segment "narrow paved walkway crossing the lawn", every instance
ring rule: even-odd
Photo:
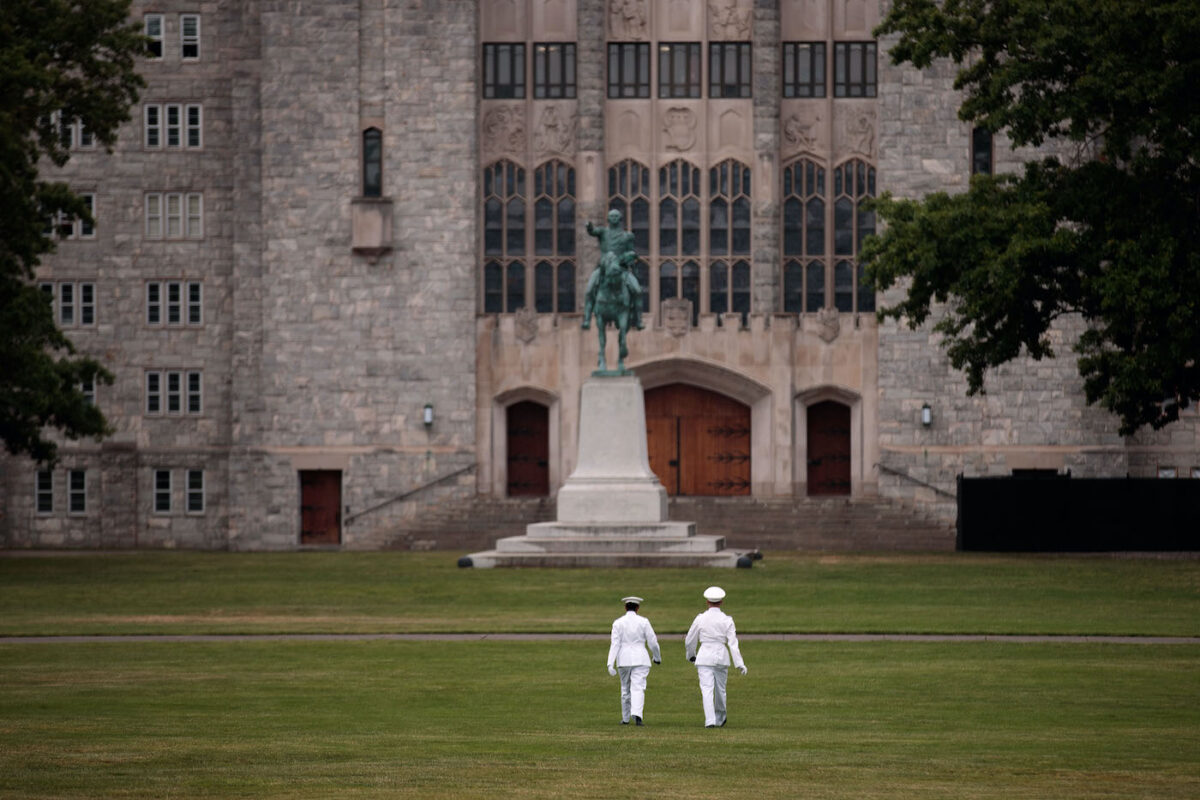
[[[659,638],[676,636],[659,634]],[[682,633],[678,636],[683,636]],[[743,642],[1007,642],[1069,644],[1200,644],[1196,636],[1028,636],[996,633],[740,633]],[[6,636],[2,644],[88,642],[607,642],[607,633],[229,633],[162,636]]]

